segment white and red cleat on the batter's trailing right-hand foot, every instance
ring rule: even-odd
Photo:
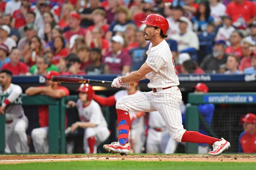
[[[230,148],[230,143],[228,141],[226,141],[225,139],[221,138],[221,141],[216,141],[214,142],[214,144],[212,145],[213,150],[208,152],[209,155],[219,155],[221,154],[223,151],[228,150],[228,148]]]

